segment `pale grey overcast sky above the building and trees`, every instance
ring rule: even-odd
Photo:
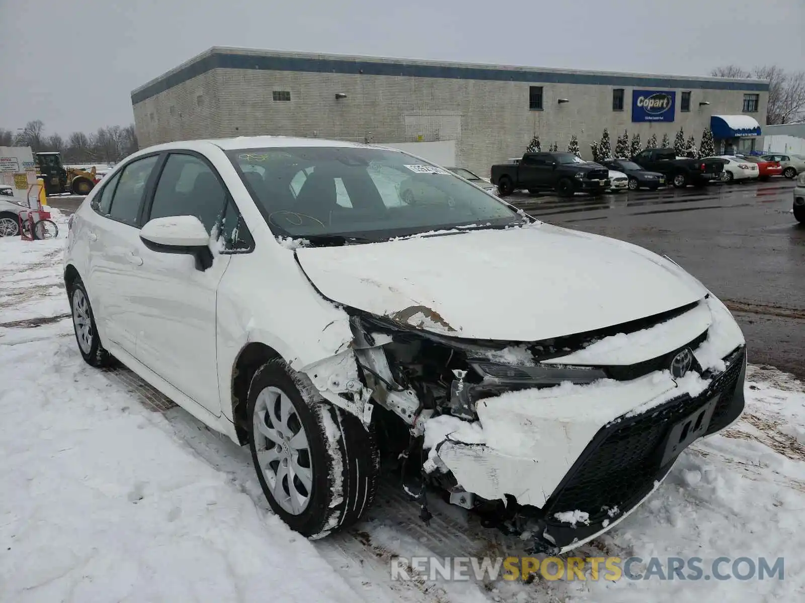
[[[707,75],[803,69],[803,32],[805,0],[0,0],[0,127],[127,125],[211,46]]]

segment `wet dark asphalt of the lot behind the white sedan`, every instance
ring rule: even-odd
[[[551,224],[612,236],[667,255],[716,293],[741,324],[752,363],[805,379],[805,226],[791,180],[576,195],[511,195]],[[49,199],[75,211],[81,199]]]

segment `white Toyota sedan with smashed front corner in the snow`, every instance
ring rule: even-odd
[[[741,330],[673,261],[377,146],[139,151],[73,216],[64,281],[84,359],[250,446],[310,537],[360,518],[382,472],[425,518],[442,490],[567,550],[744,405]]]

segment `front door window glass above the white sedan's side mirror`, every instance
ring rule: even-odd
[[[212,232],[225,200],[225,188],[206,162],[194,155],[171,154],[159,176],[148,219],[195,215]]]

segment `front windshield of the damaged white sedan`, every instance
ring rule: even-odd
[[[402,151],[300,146],[227,154],[275,235],[368,242],[528,220],[448,170]]]

